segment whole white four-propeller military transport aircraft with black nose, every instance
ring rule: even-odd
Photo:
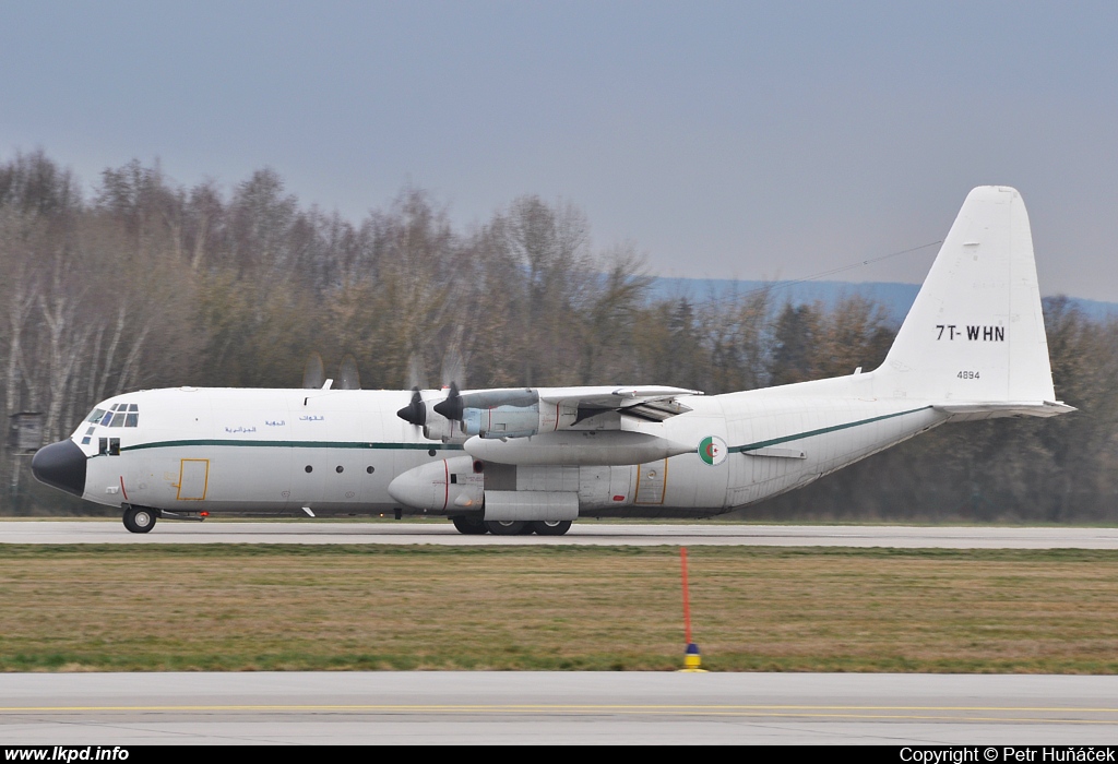
[[[859,370],[860,371],[860,370]],[[970,192],[880,369],[703,397],[664,386],[177,388],[97,404],[35,476],[159,517],[445,515],[462,533],[717,515],[950,421],[1051,417],[1032,235],[1011,188]]]

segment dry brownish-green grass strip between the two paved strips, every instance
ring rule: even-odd
[[[689,550],[710,670],[1118,672],[1118,553]],[[678,547],[2,545],[0,670],[671,670]]]

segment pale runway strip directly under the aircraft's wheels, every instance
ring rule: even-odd
[[[903,525],[652,524],[580,521],[565,536],[464,536],[446,521],[160,521],[148,534],[120,521],[4,521],[0,544],[451,544],[603,546],[888,546],[1118,550],[1118,528]]]

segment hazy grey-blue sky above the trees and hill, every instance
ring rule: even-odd
[[[1116,39],[1114,2],[0,0],[0,157],[267,165],[354,221],[407,183],[463,226],[538,193],[661,275],[740,278],[939,239],[1005,183],[1042,292],[1118,302]]]

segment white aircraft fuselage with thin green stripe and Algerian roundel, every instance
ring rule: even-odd
[[[869,392],[872,374],[860,376]],[[581,516],[711,515],[805,485],[947,419],[907,400],[836,399],[823,394],[827,382],[690,397],[688,413],[631,426],[692,447],[679,456],[479,471],[486,489],[500,479],[502,489],[577,493]],[[180,388],[120,395],[97,408],[135,407],[135,427],[87,421],[70,438],[85,457],[82,495],[184,513],[462,514],[453,504],[406,506],[389,494],[397,476],[465,456],[461,441],[427,440],[396,416],[409,394]],[[593,432],[593,421],[581,431]],[[531,448],[532,439],[517,440]]]

